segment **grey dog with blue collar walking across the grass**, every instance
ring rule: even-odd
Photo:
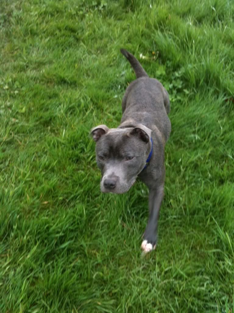
[[[122,100],[122,119],[117,128],[99,125],[91,130],[96,141],[96,161],[101,170],[102,192],[124,193],[139,177],[149,188],[149,220],[143,235],[144,252],[155,249],[160,206],[163,200],[164,146],[170,136],[168,92],[149,78],[139,61],[127,50],[134,80]]]

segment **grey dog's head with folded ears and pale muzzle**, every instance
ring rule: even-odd
[[[101,191],[127,192],[151,151],[151,130],[141,124],[124,129],[100,125],[91,130],[91,135],[96,141],[96,161],[102,173]]]

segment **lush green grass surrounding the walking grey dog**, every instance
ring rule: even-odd
[[[234,3],[2,0],[0,312],[234,312]],[[101,194],[90,128],[134,79],[171,97],[155,252],[148,190]]]

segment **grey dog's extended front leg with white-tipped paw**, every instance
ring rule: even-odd
[[[163,200],[163,190],[164,186],[160,185],[151,188],[149,191],[149,220],[141,244],[141,248],[145,253],[155,249],[157,244],[158,217]]]

